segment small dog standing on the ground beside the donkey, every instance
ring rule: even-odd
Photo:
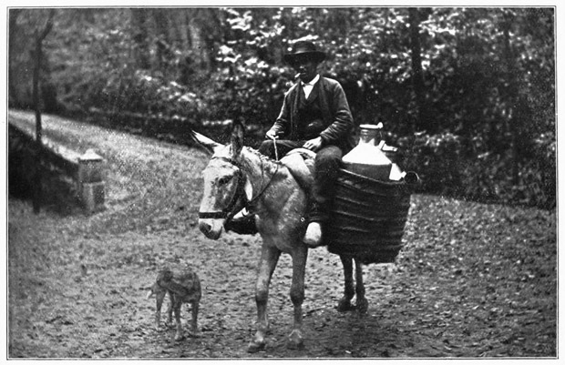
[[[157,275],[155,283],[149,288],[147,298],[149,299],[153,295],[157,299],[157,310],[155,312],[155,327],[159,330],[160,326],[160,312],[161,306],[163,304],[163,299],[165,295],[169,293],[170,304],[168,322],[172,322],[172,311],[175,312],[175,320],[177,322],[177,333],[175,335],[175,340],[182,340],[182,325],[180,324],[180,307],[182,303],[190,303],[192,309],[192,323],[191,323],[191,334],[196,336],[198,329],[198,309],[200,303],[200,297],[202,295],[200,289],[200,279],[196,273],[186,267],[173,272],[169,268],[161,269]]]

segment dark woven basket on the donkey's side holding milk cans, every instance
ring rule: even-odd
[[[325,238],[328,250],[364,264],[394,262],[411,191],[404,181],[379,181],[342,169]]]

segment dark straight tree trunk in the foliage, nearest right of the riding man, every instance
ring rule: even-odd
[[[426,90],[422,72],[422,47],[420,46],[420,14],[417,7],[408,9],[410,24],[410,51],[412,54],[412,86],[416,96],[417,122],[414,130],[426,130],[430,126],[426,114]]]

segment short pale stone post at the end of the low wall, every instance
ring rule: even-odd
[[[104,210],[104,159],[92,149],[78,158],[78,195],[87,213]]]

